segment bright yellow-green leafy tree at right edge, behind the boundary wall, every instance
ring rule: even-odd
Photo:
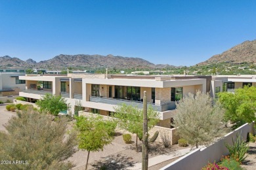
[[[226,112],[224,118],[232,122],[251,123],[256,120],[256,87],[244,86],[234,93],[220,92],[219,101]]]

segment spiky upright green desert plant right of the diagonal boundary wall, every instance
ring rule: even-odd
[[[248,156],[245,156],[249,146],[247,145],[246,141],[242,138],[240,133],[236,134],[236,141],[232,138],[232,144],[225,143],[226,148],[229,151],[230,158],[233,160],[242,162]]]

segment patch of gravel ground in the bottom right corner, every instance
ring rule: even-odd
[[[242,164],[247,170],[256,169],[256,143],[249,143],[248,156]]]

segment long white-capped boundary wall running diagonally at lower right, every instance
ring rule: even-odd
[[[179,158],[179,160],[173,161],[169,165],[161,168],[161,170],[175,170],[175,169],[189,169],[198,170],[202,169],[203,166],[207,165],[208,162],[218,162],[221,156],[228,155],[228,149],[224,143],[232,144],[232,138],[236,139],[236,134],[240,133],[242,137],[246,140],[247,133],[254,133],[253,124],[244,124],[238,127],[234,131],[224,135],[222,139],[216,141],[206,148],[198,148],[185,156]]]

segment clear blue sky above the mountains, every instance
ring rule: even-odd
[[[0,56],[59,54],[195,65],[256,39],[256,1],[3,1]]]

